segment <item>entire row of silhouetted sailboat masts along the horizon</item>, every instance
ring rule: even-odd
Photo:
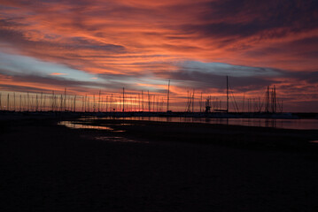
[[[231,101],[230,98],[232,98]],[[0,110],[12,111],[81,111],[81,112],[126,112],[126,111],[150,111],[166,112],[169,108],[170,80],[167,87],[167,102],[164,97],[150,94],[136,93],[128,95],[125,87],[122,88],[122,95],[102,95],[99,90],[98,95],[67,95],[66,88],[63,94],[56,94],[54,91],[49,94],[7,94],[6,102],[2,100],[0,93]],[[231,112],[283,112],[283,102],[278,102],[274,87],[267,87],[265,98],[247,98],[243,96],[243,101],[237,102],[229,86],[227,77],[226,109],[221,98],[207,95],[205,102],[201,92],[199,99],[195,97],[195,90],[188,90],[186,112],[229,112],[229,102],[232,103]],[[199,108],[199,110],[198,110]]]

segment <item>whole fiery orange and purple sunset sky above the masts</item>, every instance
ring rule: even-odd
[[[0,0],[0,91],[164,98],[170,79],[180,106],[225,101],[226,76],[237,102],[275,85],[283,110],[318,112],[318,2]]]

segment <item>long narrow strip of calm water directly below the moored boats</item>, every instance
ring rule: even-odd
[[[101,117],[110,119],[112,117]],[[318,130],[318,119],[275,119],[275,118],[206,118],[206,117],[116,117],[125,120],[159,122],[186,122],[220,125],[248,125],[284,129]]]

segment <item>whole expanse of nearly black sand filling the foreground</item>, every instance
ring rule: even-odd
[[[316,131],[57,121],[0,120],[0,211],[318,211]]]

